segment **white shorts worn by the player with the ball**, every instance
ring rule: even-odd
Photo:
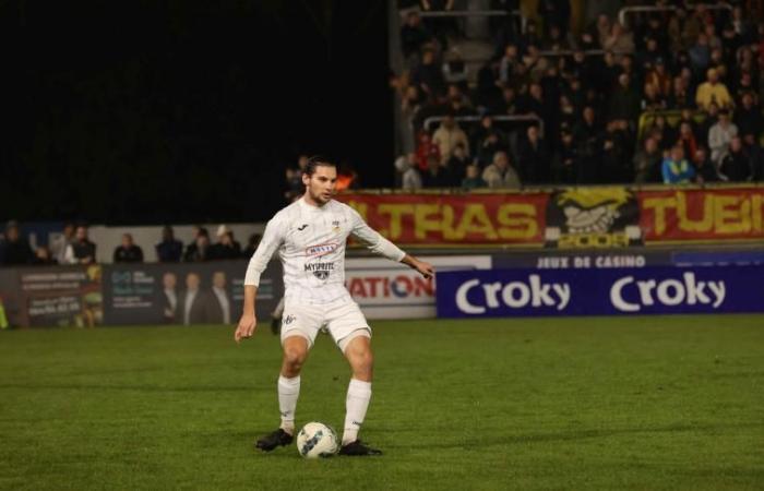
[[[302,336],[308,340],[308,348],[311,348],[322,327],[326,327],[343,352],[354,338],[371,337],[366,316],[349,297],[324,304],[287,300],[282,316],[282,344],[289,336]]]

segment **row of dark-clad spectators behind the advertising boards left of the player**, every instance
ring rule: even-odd
[[[215,241],[210,240],[206,228],[195,226],[193,240],[183,246],[175,238],[172,227],[162,230],[162,240],[155,244],[156,258],[160,263],[195,263],[205,261],[249,259],[260,243],[260,233],[249,237],[247,247],[234,238],[234,231],[220,225]],[[143,263],[141,246],[133,241],[131,233],[123,233],[121,243],[112,253],[115,263]],[[0,233],[0,266],[92,264],[96,262],[96,244],[89,240],[85,225],[65,224],[61,233],[48,246],[33,247],[21,232],[19,223],[11,220]]]

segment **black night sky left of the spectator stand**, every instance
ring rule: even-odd
[[[0,3],[0,220],[263,220],[298,152],[392,180],[384,1]]]

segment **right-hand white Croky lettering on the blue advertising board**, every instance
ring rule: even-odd
[[[621,312],[638,312],[643,307],[712,306],[718,309],[725,301],[727,287],[724,282],[699,282],[694,273],[684,273],[682,279],[619,278],[610,287],[610,301]]]

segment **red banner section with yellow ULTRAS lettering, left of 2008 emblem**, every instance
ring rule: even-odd
[[[549,195],[342,194],[367,223],[395,243],[541,246]]]

